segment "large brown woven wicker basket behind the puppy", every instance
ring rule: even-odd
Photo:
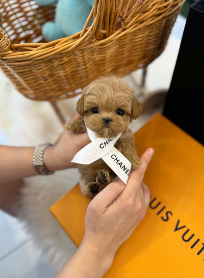
[[[81,32],[46,43],[41,26],[54,19],[55,5],[0,0],[0,67],[33,100],[75,96],[99,77],[147,67],[165,48],[183,2],[95,0]]]

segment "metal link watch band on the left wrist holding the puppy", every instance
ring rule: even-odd
[[[40,175],[51,175],[54,173],[54,172],[49,171],[43,162],[44,150],[48,146],[51,146],[51,144],[46,143],[46,144],[38,145],[37,147],[35,147],[34,152],[33,152],[33,167],[36,169],[36,171]]]

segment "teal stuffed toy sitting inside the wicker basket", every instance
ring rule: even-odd
[[[95,0],[36,0],[39,6],[56,3],[55,22],[46,22],[42,34],[47,41],[69,37],[83,29]]]

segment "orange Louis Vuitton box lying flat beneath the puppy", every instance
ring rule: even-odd
[[[204,147],[160,114],[135,134],[138,155],[148,147],[147,216],[104,277],[204,278]],[[77,246],[89,202],[77,185],[50,208]]]

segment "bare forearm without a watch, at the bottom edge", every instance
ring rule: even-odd
[[[114,256],[104,255],[97,247],[82,241],[79,249],[56,278],[102,278]]]

